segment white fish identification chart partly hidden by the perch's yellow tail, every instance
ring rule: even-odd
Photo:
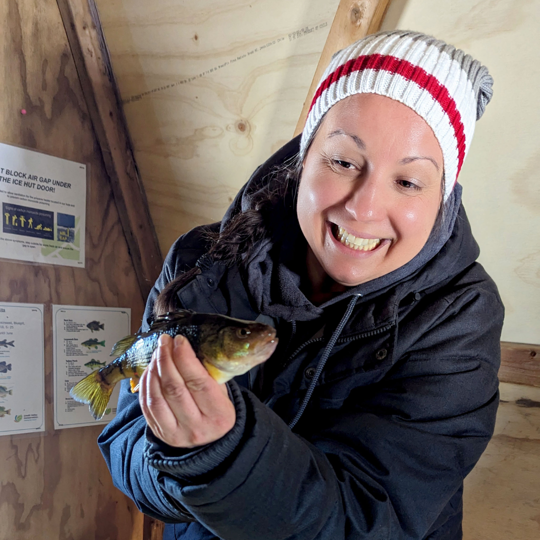
[[[70,390],[80,380],[114,360],[112,346],[131,334],[131,309],[52,306],[55,429],[106,424],[116,416],[117,384],[100,421]]]

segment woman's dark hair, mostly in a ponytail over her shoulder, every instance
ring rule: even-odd
[[[295,207],[296,191],[301,174],[302,159],[299,153],[284,164],[273,167],[262,179],[262,184],[266,184],[265,188],[252,196],[252,208],[245,212],[237,210],[219,233],[206,231],[205,235],[210,244],[206,254],[207,260],[209,262],[224,261],[228,266],[234,264],[242,266],[245,261],[248,261],[255,245],[260,240],[271,237],[273,232],[271,214],[276,207],[278,205]],[[444,173],[441,181],[441,201],[444,201]],[[447,203],[441,202],[431,234],[440,234],[446,214]],[[178,307],[178,291],[200,273],[201,268],[194,266],[168,282],[154,303],[154,316],[174,311]]]

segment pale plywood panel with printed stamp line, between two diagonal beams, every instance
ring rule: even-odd
[[[338,0],[97,0],[161,249],[292,137]]]

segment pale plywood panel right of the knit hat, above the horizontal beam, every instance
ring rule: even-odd
[[[460,182],[480,261],[506,308],[503,341],[540,343],[540,0],[396,0],[383,28],[447,40],[488,66],[494,96]]]

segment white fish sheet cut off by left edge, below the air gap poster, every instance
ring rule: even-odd
[[[0,302],[0,435],[45,430],[43,304]]]

